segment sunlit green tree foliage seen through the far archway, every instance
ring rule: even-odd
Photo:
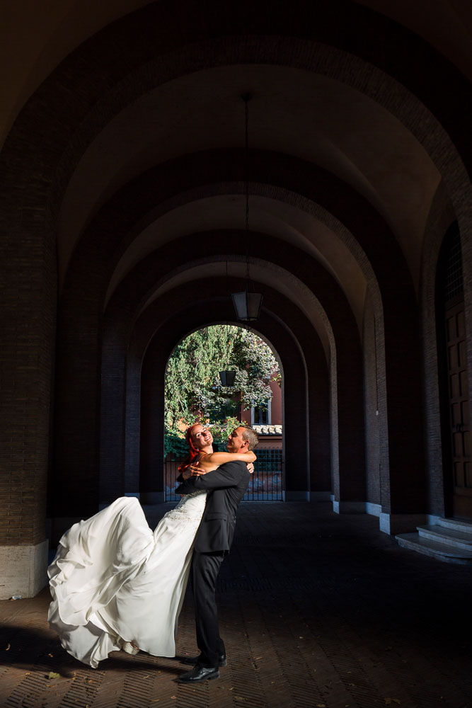
[[[223,387],[222,370],[236,370],[234,387]],[[166,449],[177,450],[178,423],[223,423],[238,408],[265,406],[277,360],[258,336],[235,326],[215,325],[190,334],[173,351],[166,371]],[[234,426],[233,426],[234,427]],[[180,433],[181,435],[181,433]],[[185,445],[185,441],[184,441]]]

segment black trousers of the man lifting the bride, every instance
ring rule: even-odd
[[[219,636],[218,610],[214,597],[219,566],[224,553],[197,553],[192,557],[190,576],[192,579],[193,599],[195,603],[195,622],[197,625],[197,646],[200,649],[198,659],[202,666],[218,666],[218,657],[226,653],[224,641]]]

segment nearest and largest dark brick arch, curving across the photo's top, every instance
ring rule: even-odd
[[[210,7],[206,6],[207,11]],[[195,10],[195,6],[192,6]],[[351,82],[359,81],[364,84],[369,95],[379,96],[384,105],[391,105],[395,115],[403,114],[405,125],[415,132],[418,139],[422,140],[433,159],[442,166],[444,175],[447,175],[451,194],[454,194],[456,204],[470,203],[468,193],[464,193],[464,178],[456,164],[456,158],[447,166],[447,156],[456,156],[453,144],[441,125],[449,132],[459,152],[464,157],[467,166],[470,164],[470,147],[468,147],[468,125],[465,101],[468,101],[468,87],[461,74],[451,65],[431,50],[425,42],[409,33],[407,30],[391,23],[386,18],[372,13],[372,11],[358,5],[341,2],[338,12],[333,13],[333,4],[329,8],[322,4],[306,4],[303,2],[290,5],[290,15],[276,12],[274,6],[267,12],[264,6],[248,4],[251,13],[251,35],[257,41],[247,41],[241,37],[233,36],[231,42],[226,39],[226,47],[231,47],[235,52],[241,51],[241,46],[246,45],[248,52],[259,61],[267,59],[267,47],[272,45],[272,55],[277,59],[279,45],[282,52],[280,36],[289,34],[296,38],[291,42],[291,61],[299,62],[309,70],[334,71],[338,62],[327,61],[333,59],[332,50],[324,48],[325,55],[307,52],[307,44],[326,42],[331,47],[341,47],[341,52],[350,52],[351,55],[362,57],[363,72],[351,72]],[[98,105],[98,99],[108,94],[108,104],[120,106],[126,102],[123,93],[116,89],[120,81],[142,66],[143,74],[152,74],[151,63],[156,55],[155,30],[159,26],[164,30],[159,51],[168,55],[185,43],[192,45],[190,52],[192,60],[198,66],[201,63],[202,47],[198,41],[209,41],[208,53],[213,53],[209,37],[241,33],[241,28],[236,21],[247,22],[245,13],[234,17],[231,23],[227,17],[221,17],[221,4],[214,4],[212,12],[201,18],[200,24],[194,24],[192,34],[188,27],[175,26],[175,18],[192,18],[195,22],[195,13],[185,12],[183,4],[182,13],[175,13],[174,21],[168,13],[168,8],[159,3],[144,8],[122,21],[113,23],[103,32],[84,42],[76,52],[62,62],[57,71],[47,79],[35,95],[28,101],[21,114],[18,116],[13,129],[6,141],[0,164],[0,180],[5,187],[5,197],[1,202],[0,213],[6,224],[11,241],[7,244],[8,259],[11,270],[9,285],[11,292],[20,292],[28,282],[40,282],[35,295],[34,304],[25,304],[23,316],[32,313],[32,319],[38,326],[28,329],[30,336],[38,343],[41,355],[38,358],[38,367],[30,372],[23,380],[23,392],[31,388],[41,390],[41,400],[38,411],[35,413],[35,423],[31,432],[21,441],[23,448],[31,450],[42,449],[40,461],[35,464],[35,469],[42,469],[44,479],[47,459],[47,430],[48,430],[48,405],[50,391],[50,369],[52,350],[54,348],[54,310],[55,310],[55,219],[64,190],[74,169],[77,159],[92,137],[100,130],[100,125],[86,123],[86,116],[91,115],[91,106]],[[307,18],[314,13],[313,22]],[[171,25],[174,22],[173,29]],[[356,31],[345,31],[346,28],[356,27]],[[245,25],[247,29],[248,25]],[[263,35],[268,31],[272,33],[265,42]],[[132,40],[134,38],[134,40]],[[398,46],[402,47],[401,56]],[[120,51],[120,47],[123,51]],[[211,49],[211,51],[210,51]],[[258,49],[259,54],[258,54]],[[283,52],[282,52],[283,53]],[[270,57],[269,57],[270,58]],[[351,71],[350,62],[343,56],[343,69],[346,73]],[[225,60],[225,59],[223,59]],[[227,61],[228,59],[226,59]],[[252,60],[252,59],[251,59]],[[396,80],[409,87],[420,100],[427,105],[432,113],[437,115],[437,122],[424,122],[422,110],[412,96],[404,100],[401,87],[388,84],[386,76],[381,76],[374,68],[375,65]],[[185,67],[184,67],[185,69]],[[86,80],[84,80],[86,76]],[[443,91],[438,91],[438,77],[442,79]],[[95,79],[95,81],[93,80]],[[388,87],[388,88],[387,88]],[[383,98],[382,98],[383,96]],[[103,110],[103,105],[100,105]],[[100,111],[98,111],[100,113]],[[108,114],[110,115],[110,114]],[[96,114],[93,120],[97,121]],[[105,115],[105,120],[108,120]],[[441,124],[441,125],[440,125]],[[81,130],[81,125],[84,130]],[[455,162],[454,162],[455,160]],[[38,178],[38,165],[40,176]],[[456,180],[456,177],[457,180]],[[457,186],[451,186],[456,181]],[[468,189],[468,185],[467,185]],[[465,198],[464,198],[465,197]],[[461,213],[460,229],[464,241],[465,261],[472,262],[470,258],[470,231],[471,219],[468,212],[459,209]],[[24,254],[18,249],[18,244],[25,242],[25,236],[33,242],[35,248],[30,251],[28,265],[25,265]],[[466,274],[467,275],[467,274]],[[469,300],[466,294],[467,302]],[[12,297],[12,303],[16,299]],[[13,307],[13,305],[12,305]],[[468,321],[470,321],[470,302],[468,302]],[[24,324],[18,324],[13,310],[7,335],[9,341],[18,339],[18,332]],[[470,329],[470,327],[469,327]],[[11,361],[18,360],[20,353],[15,350],[11,354]],[[6,388],[6,391],[8,389]],[[13,396],[13,391],[11,391]],[[19,415],[19,413],[18,413]],[[10,416],[11,417],[11,416]]]

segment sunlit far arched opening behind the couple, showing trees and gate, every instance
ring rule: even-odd
[[[146,501],[180,501],[175,488],[188,455],[183,433],[196,421],[209,428],[216,452],[226,450],[238,423],[251,426],[257,459],[242,501],[284,501],[283,370],[272,343],[247,322],[212,322],[180,339],[164,375],[164,464],[154,472],[162,474],[163,493],[147,493]],[[139,498],[144,502],[143,493]]]

